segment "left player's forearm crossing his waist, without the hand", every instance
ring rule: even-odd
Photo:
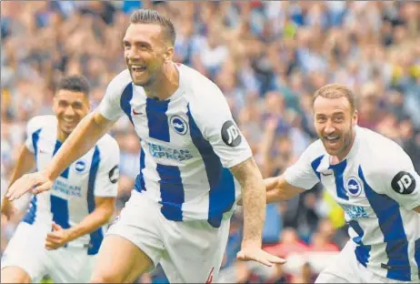
[[[114,213],[114,208],[95,208],[95,210],[87,215],[80,223],[69,228],[69,240],[72,241],[89,234],[95,229],[104,226]]]

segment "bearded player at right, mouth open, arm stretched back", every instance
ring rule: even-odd
[[[394,141],[357,127],[355,108],[345,86],[315,92],[319,139],[282,176],[265,180],[267,202],[320,181],[344,208],[352,239],[317,283],[418,283],[420,177]]]

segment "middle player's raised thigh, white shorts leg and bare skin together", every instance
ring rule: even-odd
[[[159,215],[157,204],[133,191],[106,233],[93,280],[131,281],[156,266],[164,250]]]

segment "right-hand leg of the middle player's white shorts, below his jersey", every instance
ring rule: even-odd
[[[220,228],[207,222],[170,222],[165,226],[166,252],[161,260],[169,282],[210,283],[218,278],[230,221]]]

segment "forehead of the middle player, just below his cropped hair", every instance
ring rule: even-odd
[[[124,42],[147,42],[160,40],[162,37],[162,27],[157,24],[130,24],[123,38]]]

